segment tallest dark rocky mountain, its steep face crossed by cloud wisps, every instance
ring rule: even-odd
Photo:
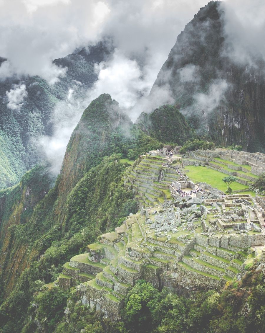
[[[232,60],[222,8],[212,1],[186,25],[150,96],[156,86],[169,87],[198,134],[219,144],[264,151],[265,63],[251,55],[253,66]]]

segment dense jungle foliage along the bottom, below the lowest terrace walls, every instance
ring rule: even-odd
[[[41,286],[40,286],[41,288]],[[67,301],[69,300],[69,301]],[[259,271],[247,271],[240,282],[223,291],[178,296],[166,287],[161,291],[139,280],[129,292],[122,320],[110,322],[102,314],[89,312],[73,290],[43,289],[34,298],[28,315],[38,313],[45,332],[56,333],[261,333],[265,330],[265,284]],[[69,312],[64,315],[63,310]],[[29,321],[23,333],[35,332]]]

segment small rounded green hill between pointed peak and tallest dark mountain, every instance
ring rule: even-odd
[[[142,131],[162,143],[182,145],[196,137],[184,116],[172,105],[162,105],[149,115],[142,112],[136,123]]]

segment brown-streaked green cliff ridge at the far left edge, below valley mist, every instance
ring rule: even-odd
[[[24,259],[28,255],[28,246],[18,241],[19,229],[29,223],[34,207],[48,192],[51,183],[48,170],[36,166],[22,177],[18,185],[1,192],[0,275],[2,283],[6,281],[5,292],[11,290],[27,265]],[[14,227],[18,225],[15,232]]]

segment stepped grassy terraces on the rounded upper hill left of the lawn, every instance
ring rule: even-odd
[[[141,156],[128,171],[127,186],[135,190],[141,206],[162,204],[170,198],[168,185],[181,176],[174,168],[164,166],[169,162],[160,156]]]

